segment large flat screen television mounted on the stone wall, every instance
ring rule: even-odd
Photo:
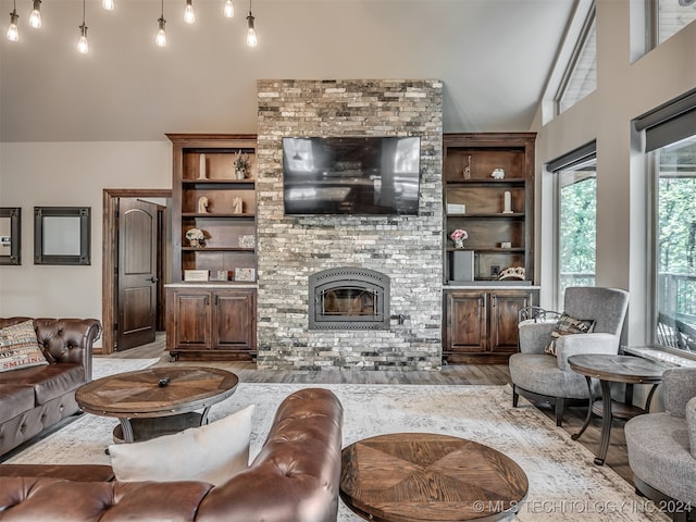
[[[420,137],[283,138],[288,215],[418,215]]]

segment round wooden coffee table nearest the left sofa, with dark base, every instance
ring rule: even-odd
[[[75,400],[87,413],[117,418],[114,440],[133,443],[207,423],[210,407],[234,394],[238,382],[215,368],[152,368],[87,383]]]

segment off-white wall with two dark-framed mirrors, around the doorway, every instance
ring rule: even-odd
[[[22,208],[22,265],[0,266],[0,316],[101,320],[104,188],[171,188],[169,140],[0,144],[0,207]],[[91,264],[34,264],[34,207],[91,207]]]

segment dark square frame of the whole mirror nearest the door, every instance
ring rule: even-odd
[[[79,217],[79,254],[44,252],[44,217]],[[34,207],[34,264],[91,264],[90,207]]]

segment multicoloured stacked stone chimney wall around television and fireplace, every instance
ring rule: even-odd
[[[437,370],[442,358],[442,100],[439,80],[259,80],[258,365]],[[283,212],[282,138],[420,136],[418,216]],[[308,277],[361,266],[391,278],[383,331],[309,331]]]

